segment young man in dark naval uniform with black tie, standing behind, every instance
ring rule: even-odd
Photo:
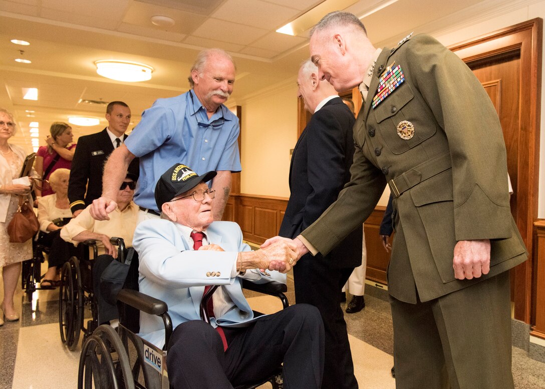
[[[68,183],[68,199],[74,217],[100,197],[102,167],[114,148],[125,141],[131,110],[123,101],[112,101],[106,107],[106,120],[108,126],[104,130],[82,136],[77,141],[79,150],[74,154]],[[132,161],[129,172],[138,177],[138,159]]]

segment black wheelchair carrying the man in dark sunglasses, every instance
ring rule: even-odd
[[[125,244],[122,238],[110,238],[112,245],[117,246],[117,260],[124,262]],[[93,268],[98,257],[95,240],[86,240],[78,257],[71,257],[63,265],[60,273],[59,287],[59,330],[60,339],[69,350],[75,350],[83,332],[83,341],[99,327],[97,296],[94,290]],[[93,252],[90,258],[89,251]],[[136,265],[137,266],[137,265]],[[86,308],[91,318],[84,325]]]

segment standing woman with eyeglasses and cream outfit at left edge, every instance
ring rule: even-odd
[[[19,208],[19,197],[30,197],[30,184],[14,184],[13,180],[19,178],[23,162],[25,162],[25,150],[8,143],[8,139],[15,135],[17,126],[13,115],[0,108],[0,267],[4,281],[4,299],[0,304],[3,313],[0,313],[0,325],[7,321],[19,320],[15,312],[13,296],[17,281],[21,273],[21,262],[32,258],[32,240],[24,243],[10,243],[7,227],[13,215]]]

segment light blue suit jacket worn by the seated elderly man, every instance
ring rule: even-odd
[[[191,250],[171,221],[153,219],[138,224],[132,245],[140,260],[140,291],[167,303],[175,328],[185,321],[201,320],[199,305],[205,285],[223,285],[235,306],[221,317],[211,318],[210,324],[247,326],[254,317],[239,278],[250,278],[256,283],[286,283],[286,275],[273,271],[267,276],[258,270],[249,270],[245,276],[231,278],[237,253],[250,251],[250,246],[243,243],[240,227],[233,222],[214,222],[206,234],[210,244],[219,245],[225,251]],[[213,272],[215,276],[210,275]],[[147,341],[163,347],[165,330],[161,318],[141,313],[140,332]]]

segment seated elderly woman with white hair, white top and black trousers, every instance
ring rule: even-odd
[[[69,169],[56,169],[49,177],[52,195],[38,200],[38,221],[40,222],[38,242],[51,248],[47,257],[49,269],[40,283],[42,288],[58,286],[60,282],[58,270],[73,253],[74,246],[60,238],[60,229],[72,219],[68,200],[69,178]]]

